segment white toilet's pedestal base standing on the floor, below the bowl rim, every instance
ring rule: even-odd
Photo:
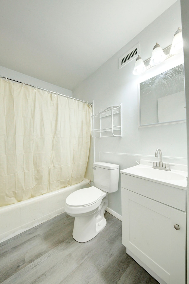
[[[73,238],[79,243],[90,241],[98,235],[106,227],[106,219],[104,217],[107,207],[107,198],[103,198],[100,206],[95,212],[89,213],[87,216],[75,217]]]

